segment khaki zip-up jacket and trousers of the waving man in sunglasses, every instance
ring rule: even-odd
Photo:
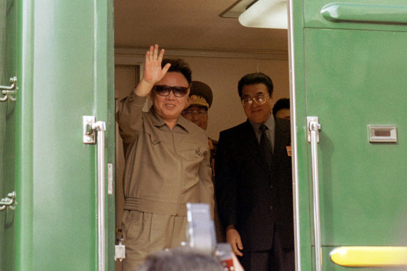
[[[206,133],[185,118],[171,130],[146,97],[130,93],[118,108],[118,127],[126,147],[123,190],[123,270],[187,240],[187,203],[208,203],[213,182]]]

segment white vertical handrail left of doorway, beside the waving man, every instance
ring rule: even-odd
[[[84,144],[98,141],[98,271],[106,270],[105,227],[105,121],[96,121],[94,116],[83,116]],[[97,134],[96,134],[97,132]],[[97,136],[97,140],[96,140]]]

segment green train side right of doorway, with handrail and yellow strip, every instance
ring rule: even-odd
[[[290,1],[298,270],[405,270],[405,0]]]

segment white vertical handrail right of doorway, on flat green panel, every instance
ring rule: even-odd
[[[319,217],[319,180],[318,180],[318,151],[319,130],[317,116],[307,116],[308,142],[311,143],[311,164],[312,164],[312,199],[314,210],[314,245],[315,245],[315,270],[322,270],[321,261],[321,222]]]

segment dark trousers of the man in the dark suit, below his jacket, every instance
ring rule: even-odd
[[[295,271],[294,249],[282,248],[277,231],[274,231],[271,249],[243,251],[243,256],[238,259],[245,271]]]

